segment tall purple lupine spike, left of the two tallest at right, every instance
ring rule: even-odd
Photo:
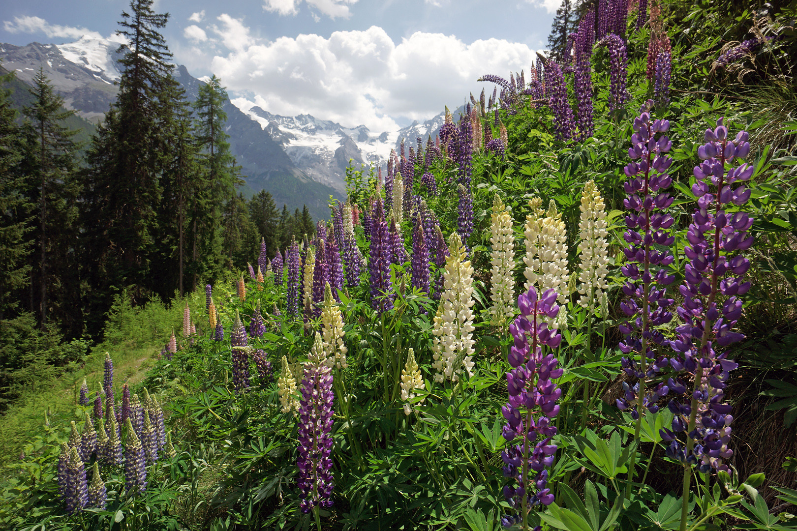
[[[667,358],[657,354],[656,349],[666,344],[660,327],[673,318],[667,310],[673,299],[668,299],[666,292],[667,286],[675,279],[667,274],[673,256],[660,250],[669,248],[674,240],[669,233],[673,217],[663,212],[673,203],[673,197],[665,192],[673,181],[667,174],[673,163],[667,153],[673,143],[665,135],[669,131],[669,121],[651,121],[651,107],[653,101],[648,100],[640,109],[642,114],[634,119],[634,135],[631,135],[632,145],[628,154],[639,162],[631,162],[624,169],[630,180],[624,185],[629,195],[623,205],[630,212],[626,216],[628,230],[623,234],[629,245],[622,250],[627,262],[621,267],[622,274],[628,279],[622,287],[627,298],[620,304],[620,309],[626,314],[627,321],[619,326],[625,336],[619,347],[628,356],[622,358],[623,369],[629,376],[638,378],[642,388],[626,393],[626,398],[630,396],[634,404],[618,400],[618,407],[631,408],[634,420],[642,414],[636,399],[638,394],[642,395],[642,405],[652,412],[656,411],[657,397],[667,394],[664,385],[646,392],[645,379],[661,373],[668,365]]]

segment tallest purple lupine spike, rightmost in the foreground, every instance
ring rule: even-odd
[[[677,309],[684,324],[676,328],[677,338],[670,343],[677,352],[670,365],[685,373],[685,378],[668,381],[669,388],[679,396],[669,403],[675,414],[672,431],[662,430],[662,438],[670,443],[667,455],[696,463],[704,474],[713,470],[727,472],[723,459],[733,453],[728,448],[732,407],[724,400],[724,388],[728,373],[739,365],[728,360],[727,352],[719,350],[744,339],[744,334],[732,329],[742,314],[740,296],[750,289],[750,283],[743,281],[750,260],[740,252],[753,243],[753,236],[748,233],[753,218],[724,209],[724,205],[734,205],[732,209],[736,210],[736,206],[750,199],[748,186],[734,188],[734,183],[748,181],[754,167],[747,163],[733,166],[734,159],[747,158],[749,135],[739,131],[731,140],[723,121],[718,119],[714,130],[705,131],[706,143],[697,149],[703,162],[693,170],[697,178],[692,185],[698,197],[697,209],[686,233],[684,255],[689,261],[685,282],[679,288],[684,302]],[[693,381],[691,393],[685,384],[688,380]],[[686,443],[678,439],[684,434]]]

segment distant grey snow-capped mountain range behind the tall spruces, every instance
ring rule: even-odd
[[[89,36],[65,45],[0,44],[0,61],[29,84],[43,68],[67,108],[99,123],[116,101],[121,44]],[[174,76],[186,89],[186,97],[195,100],[202,81],[182,65],[177,65]],[[426,138],[434,139],[445,120],[442,112],[398,131],[370,131],[364,125],[347,127],[311,115],[274,115],[244,98],[227,100],[224,110],[230,149],[243,168],[249,192],[266,189],[277,205],[289,209],[307,204],[316,218],[328,217],[330,195],[343,197],[350,161],[357,167],[386,166],[401,139],[414,146],[421,137],[425,146]]]

